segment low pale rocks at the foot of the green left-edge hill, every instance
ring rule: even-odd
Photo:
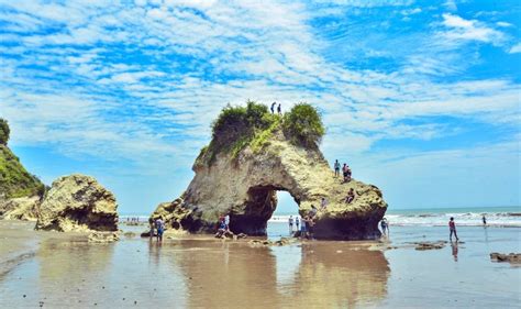
[[[22,197],[0,201],[0,217],[7,220],[36,221],[41,197]]]

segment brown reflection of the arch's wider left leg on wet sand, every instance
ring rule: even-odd
[[[186,251],[175,263],[188,282],[190,307],[278,304],[276,262],[269,247],[197,241],[182,242],[181,247]]]

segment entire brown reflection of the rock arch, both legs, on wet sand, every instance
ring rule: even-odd
[[[386,296],[389,266],[379,251],[345,243],[281,247],[184,242],[176,264],[192,307],[346,307]],[[232,302],[232,304],[231,304]]]

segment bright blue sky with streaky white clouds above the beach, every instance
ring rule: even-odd
[[[121,212],[193,176],[226,103],[307,101],[395,209],[520,205],[519,1],[0,1],[0,117]],[[285,197],[279,210],[293,210]]]

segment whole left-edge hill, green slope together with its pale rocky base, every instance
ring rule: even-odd
[[[8,147],[9,125],[0,118],[0,218],[35,220],[45,185]]]

